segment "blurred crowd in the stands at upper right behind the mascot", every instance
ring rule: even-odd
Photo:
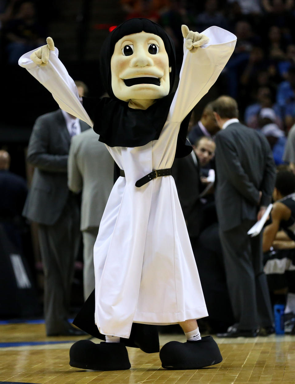
[[[239,103],[241,121],[269,137],[275,163],[283,163],[285,137],[295,122],[293,0],[121,0],[121,5],[126,19],[147,17],[162,25],[178,53],[181,24],[198,32],[216,25],[234,33],[236,48],[222,73],[224,93]]]

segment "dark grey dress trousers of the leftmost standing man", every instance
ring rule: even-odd
[[[44,269],[44,316],[46,334],[69,327],[68,315],[74,261],[79,252],[80,206],[77,196],[69,194],[56,223],[38,226]]]

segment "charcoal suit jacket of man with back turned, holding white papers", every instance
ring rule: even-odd
[[[216,209],[221,230],[255,220],[260,205],[271,201],[275,165],[265,136],[239,122],[216,134]]]

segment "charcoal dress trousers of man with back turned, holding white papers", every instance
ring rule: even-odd
[[[262,233],[247,235],[254,220],[228,231],[219,229],[229,297],[238,329],[272,326],[269,289],[263,272]]]

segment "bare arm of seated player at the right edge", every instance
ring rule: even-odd
[[[272,223],[265,227],[262,238],[262,250],[267,252],[272,247],[272,243],[280,229],[280,223],[285,218],[286,210],[285,205],[281,203],[275,203],[272,207]]]

